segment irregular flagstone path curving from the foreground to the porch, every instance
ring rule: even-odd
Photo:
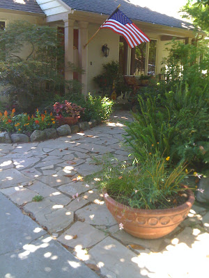
[[[100,277],[207,277],[207,208],[194,206],[169,236],[142,240],[121,231],[100,190],[94,183],[83,181],[83,177],[100,170],[100,165],[93,164],[93,157],[110,153],[118,161],[128,159],[129,152],[121,145],[125,131],[118,122],[128,118],[129,113],[117,112],[111,122],[72,136],[1,144],[0,192],[40,224],[43,234],[51,235],[56,244],[65,247],[65,252],[76,256]],[[36,195],[41,195],[42,201],[32,202]],[[22,259],[27,257],[22,254]],[[9,268],[8,260],[8,273]],[[42,277],[58,278],[52,270],[43,271],[48,271],[49,276]],[[1,273],[0,267],[1,276],[9,277]]]

